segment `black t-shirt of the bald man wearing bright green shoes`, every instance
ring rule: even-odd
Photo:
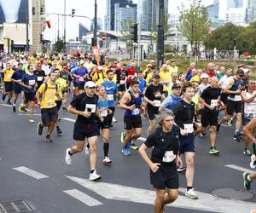
[[[208,105],[212,105],[215,106],[217,104],[218,101],[218,96],[221,93],[221,89],[219,88],[212,88],[211,86],[207,87],[207,89],[204,89],[202,94],[201,94],[201,98],[206,101],[206,103]],[[216,106],[215,106],[216,107]],[[205,107],[206,110],[209,110],[209,108]],[[216,111],[216,109],[214,109],[213,111]]]

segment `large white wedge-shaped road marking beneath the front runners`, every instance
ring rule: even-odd
[[[98,193],[105,199],[130,201],[141,204],[154,204],[155,192],[137,187],[126,187],[122,185],[93,182],[87,179],[67,176],[72,181],[77,182],[82,187],[90,189],[94,193]],[[185,188],[179,188],[182,193],[185,193]],[[196,192],[199,199],[192,200],[183,195],[179,195],[177,201],[169,206],[189,210],[205,210],[212,212],[223,213],[241,213],[250,212],[255,208],[255,204],[239,200],[218,199],[210,193]]]

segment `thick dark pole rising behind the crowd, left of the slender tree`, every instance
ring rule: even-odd
[[[164,0],[159,0],[158,8],[158,32],[157,32],[157,67],[160,70],[164,62],[164,22],[165,22],[165,5]]]

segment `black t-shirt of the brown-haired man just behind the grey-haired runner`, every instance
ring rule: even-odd
[[[195,103],[187,103],[186,101],[179,101],[172,109],[175,115],[175,123],[184,128],[183,124],[193,124],[193,118],[195,117]]]

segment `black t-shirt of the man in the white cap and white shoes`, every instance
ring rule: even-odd
[[[77,121],[84,124],[91,124],[97,122],[96,116],[96,107],[98,102],[98,96],[94,95],[93,97],[87,96],[85,93],[82,93],[75,97],[73,101],[71,101],[70,105],[76,108],[79,111],[89,111],[90,109],[91,115],[90,118],[86,118],[84,116],[79,115]]]

